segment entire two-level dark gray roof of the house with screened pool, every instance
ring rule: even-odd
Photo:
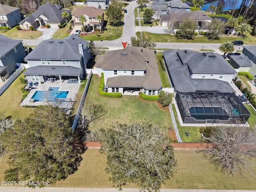
[[[192,73],[231,73],[237,72],[216,53],[201,53],[191,50],[166,50],[163,52],[166,67],[174,84],[180,92],[195,92],[198,90],[233,92],[228,82],[218,79],[191,78]],[[219,55],[219,56],[218,56]]]

